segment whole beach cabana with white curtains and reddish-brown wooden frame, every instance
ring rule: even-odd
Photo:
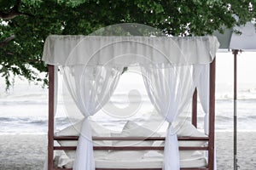
[[[214,106],[215,106],[215,54],[216,37],[101,37],[101,36],[49,36],[44,44],[43,60],[49,65],[49,143],[48,169],[213,169],[214,167]],[[93,136],[89,117],[102,109],[119,82],[124,67],[137,65],[143,73],[148,97],[158,113],[169,122],[166,135],[144,136],[135,133],[121,137]],[[74,103],[84,115],[78,136],[55,135],[56,72],[63,72],[64,82]],[[189,129],[197,127],[197,92],[205,111],[207,136],[178,136],[174,122],[187,123],[184,111],[193,98],[192,122]],[[185,123],[184,123],[185,122]],[[181,123],[181,124],[180,124]],[[194,125],[194,126],[192,126]],[[148,132],[148,131],[147,131]],[[60,133],[59,133],[60,134]],[[54,141],[79,140],[77,146],[55,146]],[[94,141],[142,141],[142,145],[98,145]],[[164,141],[154,145],[151,141]],[[203,142],[185,144],[179,142]],[[63,143],[62,143],[63,144]],[[72,167],[55,167],[54,150],[76,150]],[[156,162],[136,160],[100,160],[93,150],[137,150],[143,155],[148,150],[163,152]],[[207,150],[203,162],[183,166],[180,150]],[[120,157],[119,157],[120,158]],[[189,157],[191,160],[191,157]],[[146,161],[145,161],[146,160]],[[201,159],[202,160],[202,159]],[[145,162],[143,162],[145,161]],[[197,160],[198,161],[198,160]],[[110,167],[109,167],[110,165]],[[119,165],[119,167],[118,167]],[[191,167],[188,167],[188,166]],[[111,167],[112,166],[112,167]],[[144,166],[144,167],[143,167]]]

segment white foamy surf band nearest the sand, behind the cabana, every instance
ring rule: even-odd
[[[102,117],[102,118],[101,118]],[[125,125],[127,120],[118,119],[106,119],[104,116],[99,116],[99,123],[110,128],[121,128]],[[203,127],[202,122],[204,118],[198,117],[199,127]],[[142,117],[135,117],[133,121],[143,122]],[[255,122],[256,116],[247,115],[238,117],[238,124],[240,130],[256,129]],[[47,133],[48,117],[0,117],[0,133]],[[78,122],[77,119],[70,117],[56,117],[55,118],[57,129],[67,127],[74,122]],[[232,130],[233,129],[233,116],[217,115],[216,116],[216,130]]]

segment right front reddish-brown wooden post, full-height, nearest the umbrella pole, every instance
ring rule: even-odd
[[[214,132],[215,132],[215,71],[216,71],[216,57],[210,64],[210,96],[209,96],[209,152],[208,152],[208,166],[209,170],[214,169]]]

